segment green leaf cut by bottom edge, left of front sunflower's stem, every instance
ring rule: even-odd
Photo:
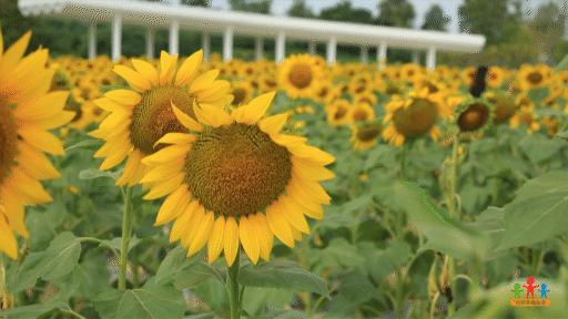
[[[144,286],[124,292],[109,290],[94,300],[94,307],[103,319],[182,318],[186,309],[182,292],[164,286]]]

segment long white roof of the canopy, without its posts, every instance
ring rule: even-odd
[[[223,31],[230,27],[237,34],[276,37],[306,41],[327,41],[334,37],[338,43],[378,45],[439,51],[478,52],[485,37],[452,34],[437,31],[346,23],[315,19],[274,17],[256,13],[224,11],[163,2],[131,0],[19,0],[24,16],[53,16],[78,20],[109,22],[120,14],[123,23],[168,28],[179,21],[180,28],[202,31]]]

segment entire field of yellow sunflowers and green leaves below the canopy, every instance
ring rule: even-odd
[[[0,37],[0,318],[567,318],[567,65],[30,37]]]

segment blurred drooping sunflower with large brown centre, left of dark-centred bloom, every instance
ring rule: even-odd
[[[427,89],[412,91],[406,99],[394,95],[385,105],[383,122],[386,128],[382,136],[396,146],[402,146],[407,138],[419,138],[427,134],[436,141],[440,135],[436,123],[438,119],[452,116],[448,110],[443,101],[428,94]]]

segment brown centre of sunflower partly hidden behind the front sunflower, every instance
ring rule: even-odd
[[[130,138],[132,144],[144,154],[152,154],[155,142],[168,133],[185,132],[172,111],[171,102],[185,114],[195,117],[193,101],[195,99],[186,90],[174,86],[162,86],[148,91],[142,101],[132,112]]]

